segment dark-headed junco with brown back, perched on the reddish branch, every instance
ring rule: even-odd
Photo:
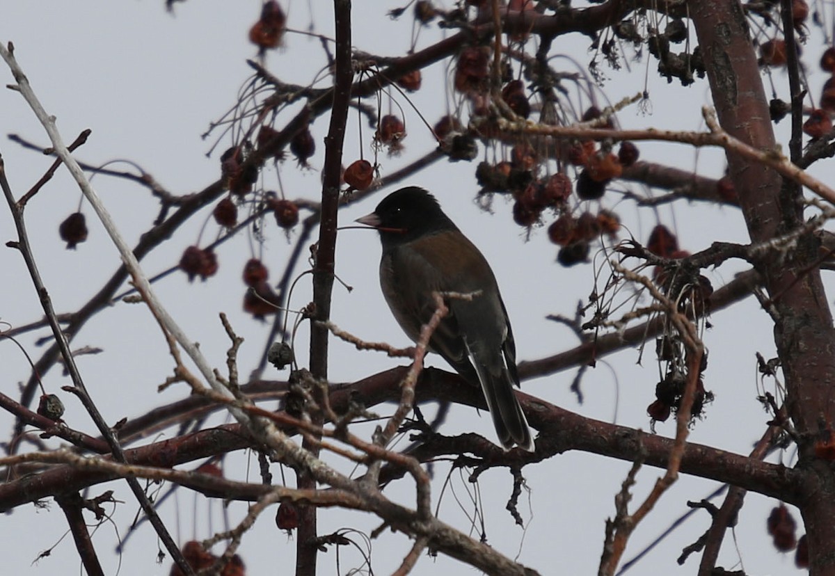
[[[433,291],[470,293],[471,301],[449,298],[429,341],[458,374],[481,384],[498,440],[505,449],[534,450],[528,422],[514,396],[519,386],[516,346],[508,313],[487,260],[422,188],[392,192],[357,222],[380,233],[380,285],[403,331],[417,341],[432,317]]]

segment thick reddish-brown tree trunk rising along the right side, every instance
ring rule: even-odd
[[[740,3],[690,2],[692,23],[704,57],[722,129],[754,149],[772,150],[768,104]],[[736,187],[748,233],[755,243],[802,226],[797,193],[777,172],[726,149],[728,174]],[[817,458],[814,442],[835,422],[835,330],[820,273],[807,269],[817,257],[811,234],[802,237],[792,259],[757,265],[774,302],[777,352],[787,386],[787,409],[797,432],[802,485],[794,494],[806,523],[811,573],[835,573],[835,483],[831,462]],[[798,281],[798,277],[800,280]]]

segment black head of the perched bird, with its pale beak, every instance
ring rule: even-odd
[[[382,199],[374,211],[358,218],[380,233],[382,244],[397,245],[443,230],[458,230],[438,200],[423,188],[401,188]]]

